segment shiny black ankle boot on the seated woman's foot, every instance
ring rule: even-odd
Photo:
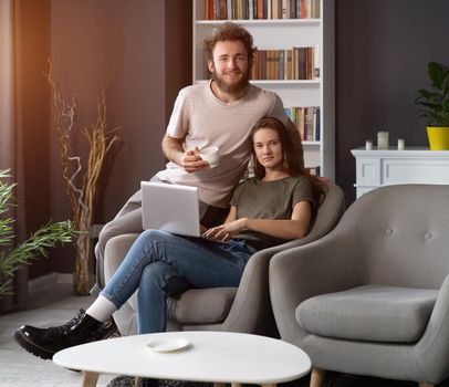
[[[34,356],[51,359],[61,349],[95,339],[96,331],[101,325],[100,321],[80,310],[64,325],[50,328],[23,325],[14,332],[14,339],[22,348]]]

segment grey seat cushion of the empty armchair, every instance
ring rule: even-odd
[[[365,285],[305,300],[296,321],[319,336],[413,343],[422,334],[438,291]]]

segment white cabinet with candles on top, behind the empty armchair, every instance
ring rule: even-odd
[[[410,147],[404,150],[353,149],[356,163],[356,196],[397,184],[449,185],[449,150]]]

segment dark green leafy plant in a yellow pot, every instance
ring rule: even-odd
[[[415,103],[422,106],[417,118],[427,122],[431,150],[449,149],[449,69],[440,63],[427,65],[432,88],[419,88]]]

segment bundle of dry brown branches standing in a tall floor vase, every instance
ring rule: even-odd
[[[52,79],[52,63],[49,73],[45,74],[53,94],[53,117],[61,146],[62,175],[65,181],[66,192],[73,210],[73,222],[80,231],[75,240],[75,270],[73,273],[74,293],[87,295],[92,287],[88,273],[88,258],[91,251],[90,230],[93,221],[93,203],[98,184],[98,177],[103,169],[106,154],[112,149],[119,137],[114,134],[119,127],[108,129],[106,124],[106,96],[102,90],[97,100],[97,119],[90,127],[81,129],[81,134],[88,142],[88,159],[85,165],[81,157],[74,155],[72,142],[79,132],[75,121],[76,96],[70,102],[62,98],[56,84]]]

